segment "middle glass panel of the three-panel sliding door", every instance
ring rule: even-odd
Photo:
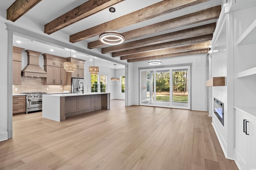
[[[170,70],[156,71],[156,105],[170,106]]]

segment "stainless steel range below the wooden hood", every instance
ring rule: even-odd
[[[28,111],[42,110],[42,95],[46,92],[23,92],[26,94],[26,114]]]

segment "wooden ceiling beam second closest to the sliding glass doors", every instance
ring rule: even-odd
[[[210,45],[210,41],[204,42],[204,43],[186,45],[186,46],[182,46],[182,47],[175,47],[175,48],[169,48],[169,49],[161,49],[161,50],[137,53],[137,54],[132,54],[132,55],[125,55],[125,56],[121,56],[120,59],[121,60],[136,59],[136,58],[150,57],[150,56],[156,56],[156,55],[166,55],[166,54],[170,54],[170,53],[194,51],[194,50],[199,50],[199,49],[208,49],[209,45]]]

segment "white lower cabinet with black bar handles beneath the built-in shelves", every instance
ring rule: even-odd
[[[236,164],[241,170],[256,169],[256,117],[239,108],[236,108]]]

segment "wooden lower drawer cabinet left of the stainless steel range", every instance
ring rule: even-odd
[[[12,113],[26,112],[26,95],[12,96]]]

